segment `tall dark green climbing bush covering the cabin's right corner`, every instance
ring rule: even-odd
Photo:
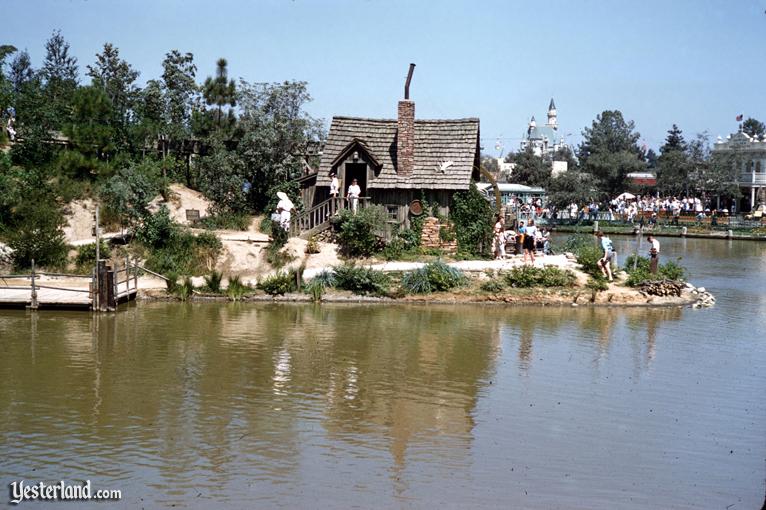
[[[489,257],[492,248],[493,209],[472,182],[468,191],[455,193],[450,219],[455,225],[458,250]]]

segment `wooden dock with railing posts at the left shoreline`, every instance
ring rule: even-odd
[[[136,298],[139,269],[127,259],[121,269],[102,260],[86,276],[36,271],[33,262],[30,274],[0,275],[0,307],[114,311]]]

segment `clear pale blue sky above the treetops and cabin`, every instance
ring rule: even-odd
[[[606,109],[657,148],[766,121],[766,0],[546,2],[319,0],[0,0],[0,44],[39,66],[61,29],[81,72],[104,42],[141,72],[194,54],[198,81],[219,57],[247,81],[305,80],[309,112],[393,118],[410,62],[418,118],[479,117],[485,152],[515,150],[555,98],[570,143]]]

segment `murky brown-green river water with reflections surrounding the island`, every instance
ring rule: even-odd
[[[660,240],[714,308],[2,310],[0,483],[122,491],[69,508],[759,509],[766,243]]]

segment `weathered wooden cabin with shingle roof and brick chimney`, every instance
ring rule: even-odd
[[[310,205],[329,198],[335,173],[342,195],[357,179],[362,196],[401,224],[421,198],[446,215],[454,193],[479,180],[479,151],[479,119],[415,120],[409,99],[399,101],[397,119],[333,117]]]

